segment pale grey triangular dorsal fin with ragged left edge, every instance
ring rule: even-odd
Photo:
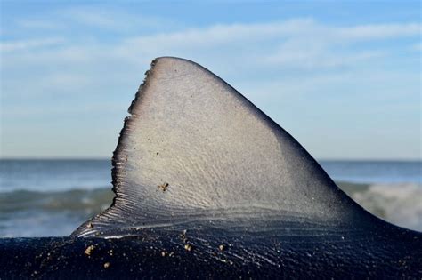
[[[194,62],[154,60],[129,113],[113,156],[114,203],[73,236],[195,220],[334,227],[366,215],[288,132]]]

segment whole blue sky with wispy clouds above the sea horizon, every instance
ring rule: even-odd
[[[0,158],[110,158],[150,61],[193,60],[319,159],[421,159],[409,1],[0,2]]]

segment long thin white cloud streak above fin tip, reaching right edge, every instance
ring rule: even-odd
[[[367,39],[418,36],[421,24],[385,24],[347,28],[321,25],[312,19],[287,20],[264,24],[215,25],[209,28],[191,28],[179,32],[131,37],[126,44],[143,47],[209,47],[222,44],[243,44],[283,38],[306,38],[317,42],[345,43]]]

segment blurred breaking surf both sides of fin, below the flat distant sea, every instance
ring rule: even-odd
[[[422,231],[422,185],[353,184],[339,187],[377,217]],[[0,193],[0,236],[68,236],[83,221],[108,208],[110,188]]]

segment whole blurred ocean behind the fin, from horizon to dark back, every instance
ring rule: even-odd
[[[319,161],[378,217],[422,231],[421,161]],[[0,237],[69,236],[108,208],[110,160],[0,160]]]

